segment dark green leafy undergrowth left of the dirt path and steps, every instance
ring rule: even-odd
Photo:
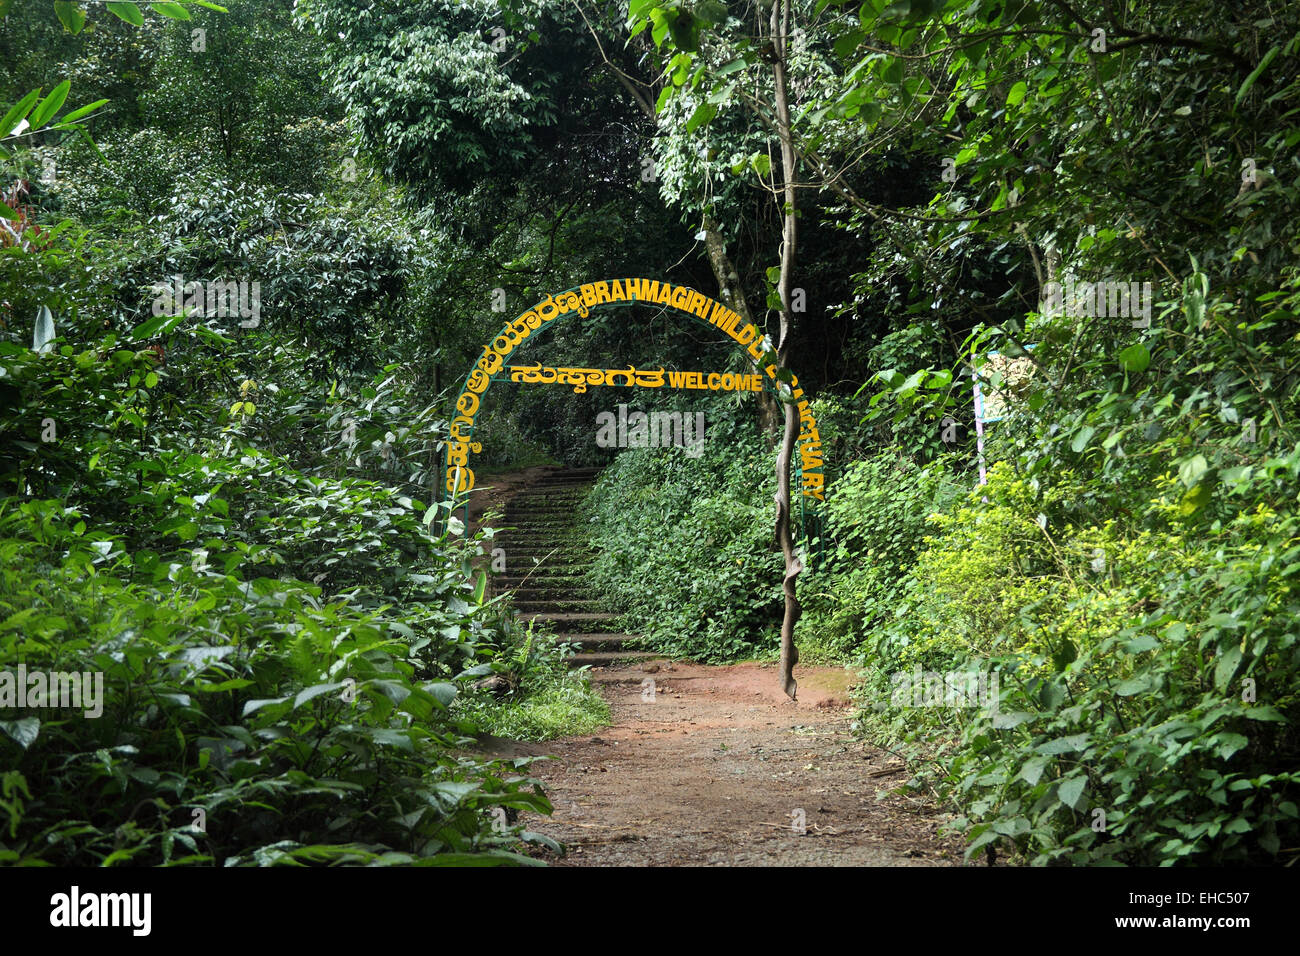
[[[460,754],[476,727],[448,710],[524,640],[482,602],[481,548],[246,444],[247,401],[159,401],[151,351],[0,351],[0,670],[103,679],[101,715],[0,708],[6,790],[34,795],[5,804],[5,858],[526,860],[541,838],[491,808],[549,804],[523,763]]]

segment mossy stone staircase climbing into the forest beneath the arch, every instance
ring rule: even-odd
[[[599,609],[586,591],[594,558],[582,529],[575,524],[578,503],[599,468],[560,468],[516,493],[506,505],[502,531],[493,546],[506,553],[506,571],[493,578],[494,589],[514,592],[524,619],[550,624],[556,637],[577,644],[572,667],[608,667],[659,657],[629,650],[637,635],[610,623],[618,615]]]

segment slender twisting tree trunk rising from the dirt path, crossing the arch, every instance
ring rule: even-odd
[[[784,186],[777,196],[781,203],[781,273],[777,284],[777,294],[781,298],[781,333],[776,343],[777,362],[784,368],[790,349],[790,325],[793,316],[790,312],[790,286],[794,280],[794,254],[798,243],[798,209],[796,202],[796,166],[794,138],[790,133],[790,103],[789,90],[785,77],[785,55],[788,49],[788,36],[790,26],[790,0],[776,0],[772,4],[771,39],[776,56],[772,62],[775,78],[774,105],[776,107],[776,129],[781,140],[781,179]],[[793,398],[785,402],[785,433],[781,436],[781,450],[776,455],[776,541],[785,558],[785,576],[781,588],[785,593],[785,615],[781,619],[781,689],[790,700],[798,684],[794,680],[794,665],[800,661],[800,650],[794,646],[794,626],[798,623],[803,609],[796,592],[794,581],[803,570],[794,550],[794,537],[790,531],[790,459],[794,455],[794,445],[800,437],[800,414]]]

